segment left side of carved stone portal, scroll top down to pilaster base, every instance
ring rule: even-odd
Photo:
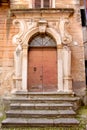
[[[14,70],[15,75],[13,82],[15,87],[12,92],[27,90],[27,48],[26,47],[26,34],[33,27],[36,26],[34,22],[27,22],[22,19],[15,19],[13,24],[19,28],[19,33],[13,37],[13,44],[15,44],[16,50],[14,52]]]

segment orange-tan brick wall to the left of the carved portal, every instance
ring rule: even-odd
[[[0,94],[12,89],[13,51],[12,36],[16,29],[9,17],[8,5],[0,6]]]

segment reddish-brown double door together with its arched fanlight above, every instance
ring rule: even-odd
[[[55,41],[47,35],[35,36],[29,44],[28,90],[57,90],[57,51]]]

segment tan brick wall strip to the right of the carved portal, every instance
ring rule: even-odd
[[[75,5],[75,13],[70,18],[69,31],[73,36],[73,43],[71,44],[72,51],[72,78],[73,89],[80,94],[85,90],[85,64],[84,64],[84,45],[83,45],[83,32],[81,26],[81,16],[79,5]]]

